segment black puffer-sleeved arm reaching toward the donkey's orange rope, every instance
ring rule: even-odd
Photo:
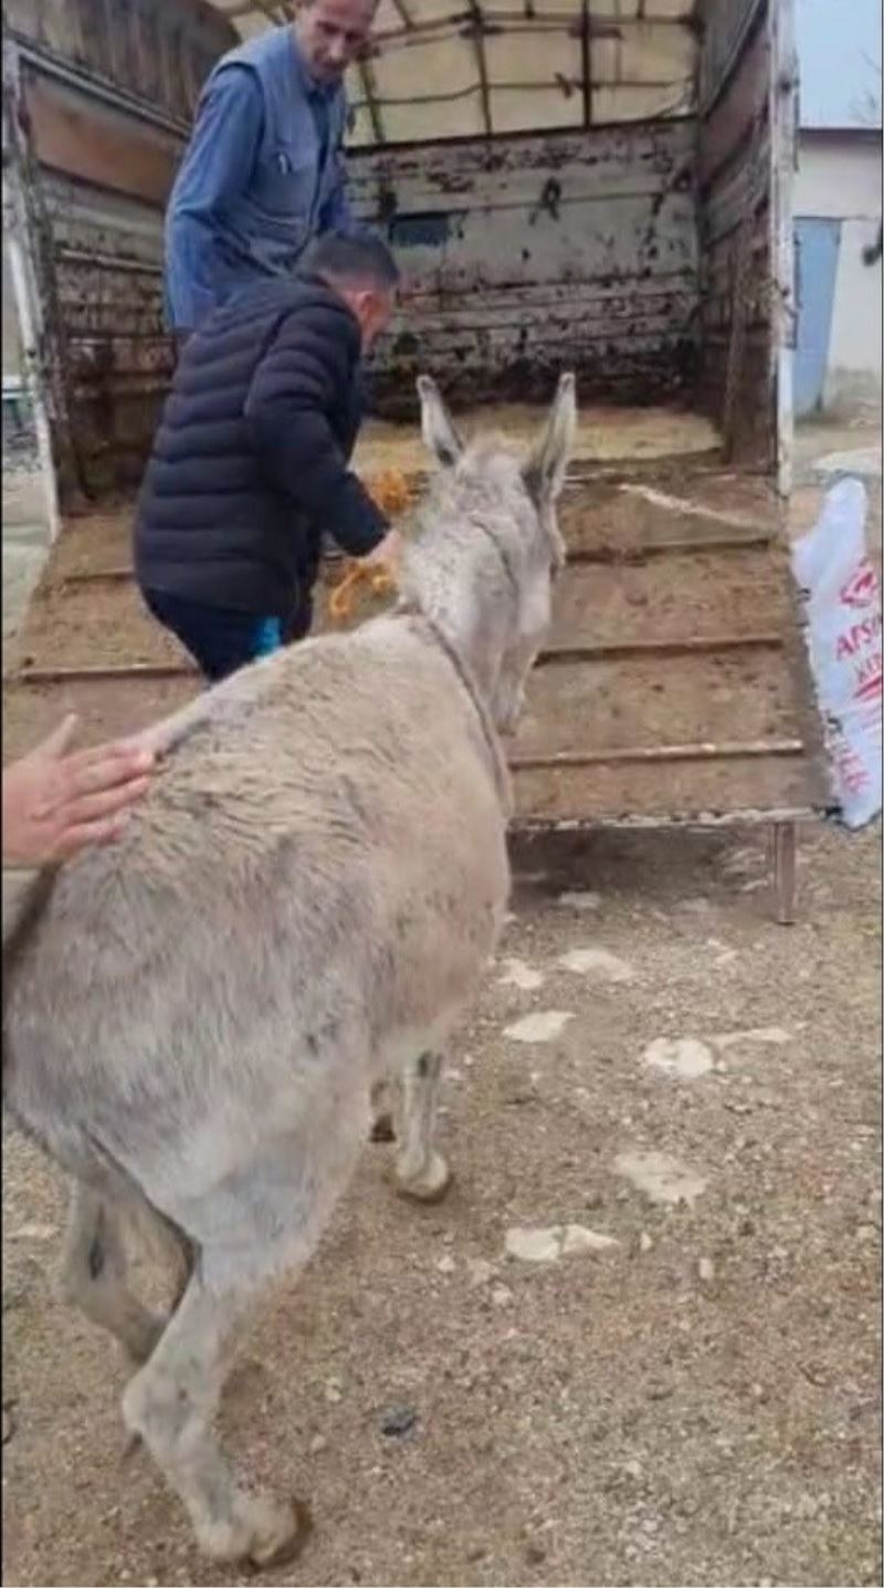
[[[262,357],[246,399],[252,445],[279,491],[329,532],[351,557],[384,542],[389,524],[348,459],[332,413],[352,381],[356,322],[343,308],[290,314]]]

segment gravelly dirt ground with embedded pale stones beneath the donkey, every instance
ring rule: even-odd
[[[316,1521],[268,1582],[881,1582],[879,859],[809,827],[781,927],[762,835],[519,845],[449,1199],[367,1147],[243,1342],[224,1436]],[[124,1459],[122,1367],[52,1293],[57,1175],[10,1135],[3,1178],[3,1580],[256,1582]]]

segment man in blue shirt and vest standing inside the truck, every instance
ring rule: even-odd
[[[240,287],[289,276],[313,237],[357,230],[343,76],[376,6],[306,0],[290,27],[230,51],[206,79],[167,211],[167,316],[179,338]]]

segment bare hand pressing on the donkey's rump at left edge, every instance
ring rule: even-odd
[[[154,756],[117,740],[65,754],[68,716],[37,750],[3,770],[3,865],[51,865],[92,843],[113,843],[141,799]]]

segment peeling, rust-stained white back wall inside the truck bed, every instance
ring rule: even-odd
[[[565,357],[584,400],[676,389],[697,311],[692,173],[673,122],[354,157],[360,214],[448,225],[444,246],[398,241],[403,310],[370,372],[381,410],[402,413],[421,364],[459,403],[525,381],[540,397]]]

